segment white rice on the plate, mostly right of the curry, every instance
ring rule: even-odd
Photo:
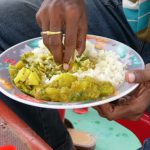
[[[49,50],[39,44],[40,48],[35,49],[33,52],[37,55],[43,53],[49,53]],[[125,80],[125,66],[119,60],[119,56],[113,51],[96,50],[94,44],[90,42],[86,43],[86,50],[84,52],[89,57],[97,59],[95,69],[89,69],[81,73],[74,73],[79,78],[89,76],[95,78],[98,81],[109,81],[116,88]],[[45,78],[45,83],[50,83],[55,80],[58,75],[53,76],[50,80]]]

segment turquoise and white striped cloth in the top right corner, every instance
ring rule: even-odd
[[[123,8],[132,30],[150,42],[150,0],[123,0]]]

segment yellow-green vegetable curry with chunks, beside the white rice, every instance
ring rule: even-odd
[[[94,68],[95,64],[94,59],[82,55],[75,59],[66,72],[61,65],[55,64],[51,54],[37,56],[28,52],[16,65],[9,66],[9,73],[17,88],[36,99],[77,102],[96,100],[115,92],[115,87],[110,82],[97,81],[88,76],[79,78],[74,74]]]

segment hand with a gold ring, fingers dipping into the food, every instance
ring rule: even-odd
[[[84,0],[44,0],[36,15],[42,31],[65,34],[43,35],[46,47],[59,64],[69,64],[75,49],[81,54],[85,49],[87,19]]]

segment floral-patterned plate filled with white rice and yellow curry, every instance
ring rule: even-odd
[[[115,101],[138,87],[129,70],[144,69],[140,55],[118,41],[87,35],[86,49],[69,70],[54,62],[42,38],[19,43],[0,55],[0,91],[18,102],[73,109]]]

